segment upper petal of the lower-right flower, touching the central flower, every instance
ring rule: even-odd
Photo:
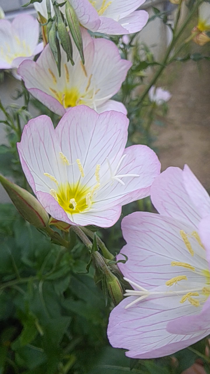
[[[151,187],[151,200],[160,214],[197,227],[201,220],[183,183],[183,172],[170,167],[162,172]]]

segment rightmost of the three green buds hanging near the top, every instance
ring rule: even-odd
[[[72,38],[74,40],[75,45],[77,46],[82,63],[84,65],[83,41],[81,36],[80,23],[78,21],[75,10],[69,1],[66,2],[65,13],[67,24],[70,29]]]

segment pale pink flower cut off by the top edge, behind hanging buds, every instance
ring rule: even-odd
[[[145,0],[69,0],[82,26],[93,32],[110,35],[136,33],[146,25],[149,15],[138,9]],[[52,2],[52,1],[51,1]],[[62,3],[59,0],[58,3]],[[34,7],[47,18],[46,0]],[[65,6],[61,7],[65,13]]]

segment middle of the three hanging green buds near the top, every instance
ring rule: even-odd
[[[55,8],[56,16],[57,16],[57,29],[58,29],[58,36],[61,41],[61,45],[67,54],[67,61],[70,60],[71,64],[74,65],[74,61],[72,59],[73,49],[72,49],[70,35],[67,31],[64,20],[62,19],[59,8],[57,6],[55,6],[54,8]]]

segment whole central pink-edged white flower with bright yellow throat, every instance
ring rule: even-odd
[[[70,108],[56,129],[47,116],[24,127],[18,152],[46,211],[72,225],[112,226],[121,206],[150,194],[160,162],[145,145],[125,149],[129,120],[120,112]]]

